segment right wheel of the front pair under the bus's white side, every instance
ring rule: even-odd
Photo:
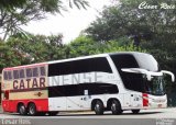
[[[117,101],[117,100],[112,101],[111,111],[112,111],[112,114],[114,114],[114,115],[122,113],[121,104],[119,101]]]

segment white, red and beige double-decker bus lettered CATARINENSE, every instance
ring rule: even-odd
[[[100,54],[64,60],[4,68],[3,112],[21,115],[56,115],[64,111],[125,110],[167,106],[164,73],[155,58],[145,53]]]

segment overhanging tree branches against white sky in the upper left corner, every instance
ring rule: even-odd
[[[68,2],[68,3],[67,3]],[[13,35],[19,32],[24,32],[21,25],[28,24],[33,20],[45,18],[46,13],[61,13],[67,10],[64,4],[69,4],[70,8],[75,4],[78,9],[86,9],[89,4],[86,0],[2,0],[0,1],[0,29],[1,34]]]

